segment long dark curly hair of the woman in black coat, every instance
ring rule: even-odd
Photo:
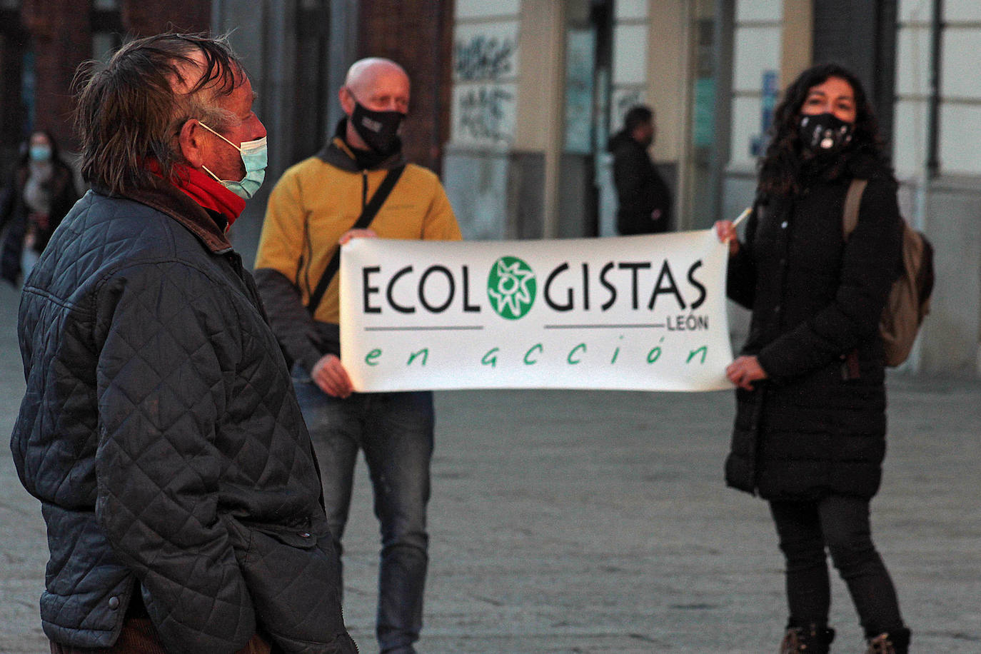
[[[844,79],[852,87],[855,123],[852,142],[842,153],[831,175],[838,174],[853,153],[866,153],[888,169],[885,146],[879,134],[879,121],[861,81],[850,70],[838,64],[819,64],[801,73],[784,91],[784,97],[773,114],[770,144],[759,169],[759,192],[765,195],[789,196],[800,191],[800,169],[804,158],[798,125],[800,107],[807,92],[830,77]]]

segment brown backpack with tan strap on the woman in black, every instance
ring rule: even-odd
[[[868,179],[852,179],[845,196],[842,233],[846,241],[858,224],[858,205],[867,184]],[[903,221],[903,272],[893,282],[879,320],[887,366],[899,366],[909,356],[916,331],[930,313],[933,281],[933,245],[922,232]]]

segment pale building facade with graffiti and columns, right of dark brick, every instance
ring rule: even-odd
[[[645,102],[674,227],[707,227],[751,203],[782,89],[837,61],[871,95],[904,215],[936,246],[905,368],[979,377],[979,47],[976,0],[457,0],[443,178],[467,237],[612,234],[605,139]]]

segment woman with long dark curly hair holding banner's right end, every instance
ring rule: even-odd
[[[802,73],[773,130],[745,239],[716,224],[729,296],[752,310],[726,371],[738,386],[726,481],[770,504],[787,564],[781,652],[828,651],[827,549],[868,652],[904,654],[909,630],[869,528],[886,449],[878,325],[901,266],[897,183],[861,83],[842,67]],[[868,184],[846,241],[852,178]]]

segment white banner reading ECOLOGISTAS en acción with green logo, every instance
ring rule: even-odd
[[[731,388],[712,230],[538,241],[355,238],[341,360],[360,391]]]

